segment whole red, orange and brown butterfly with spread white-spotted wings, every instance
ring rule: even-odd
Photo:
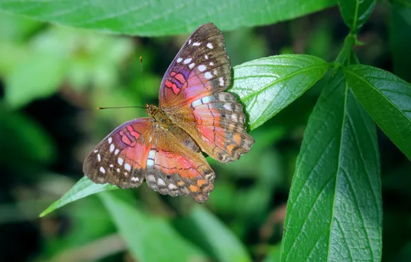
[[[248,152],[254,139],[245,131],[243,106],[223,92],[231,65],[214,23],[195,30],[161,81],[159,107],[150,117],[123,123],[90,152],[83,172],[94,183],[188,195],[202,203],[214,189],[214,171],[202,152],[228,163]]]

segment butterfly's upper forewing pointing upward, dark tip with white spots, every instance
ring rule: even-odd
[[[214,23],[206,23],[192,33],[164,74],[159,104],[163,108],[186,105],[221,92],[230,83],[223,34]]]

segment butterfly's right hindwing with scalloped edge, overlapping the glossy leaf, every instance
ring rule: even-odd
[[[193,101],[175,115],[183,119],[178,123],[201,150],[223,163],[239,159],[254,143],[245,130],[243,106],[228,92]]]

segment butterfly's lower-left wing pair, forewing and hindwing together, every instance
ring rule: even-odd
[[[170,196],[190,195],[199,203],[214,189],[214,172],[181,128],[164,130],[150,118],[128,121],[90,152],[83,172],[94,183],[150,188]]]

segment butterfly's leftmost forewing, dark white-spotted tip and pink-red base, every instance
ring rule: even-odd
[[[112,131],[86,158],[83,172],[94,183],[137,188],[146,174],[152,119],[128,121]]]

